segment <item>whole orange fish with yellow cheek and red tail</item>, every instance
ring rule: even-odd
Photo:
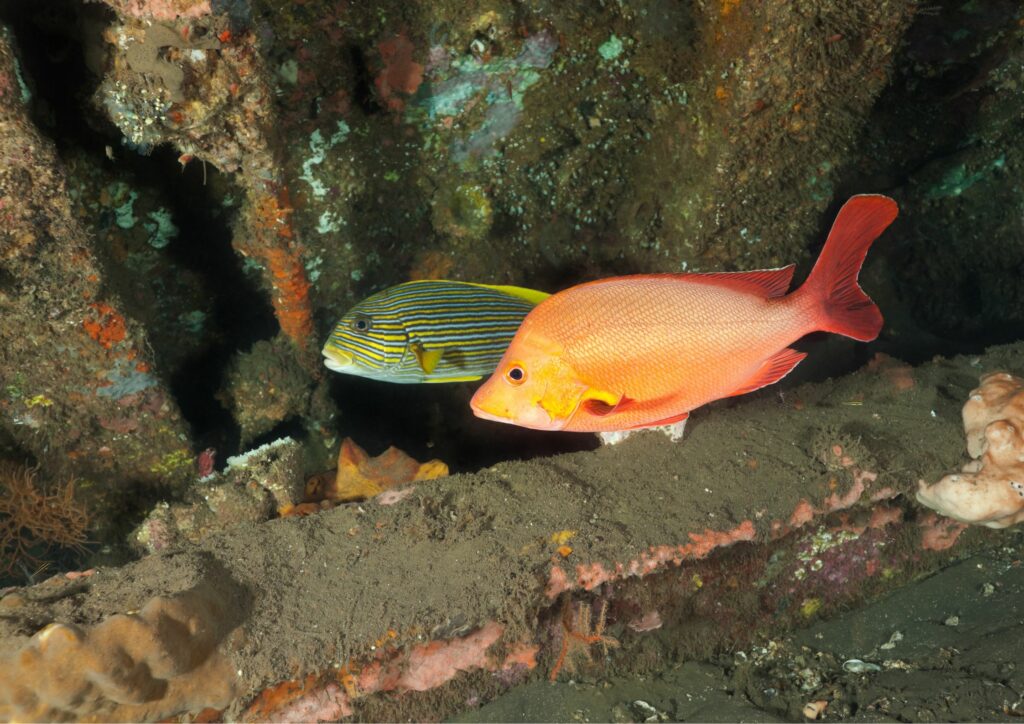
[[[886,197],[847,202],[807,282],[788,295],[793,265],[618,276],[559,292],[527,314],[473,411],[543,430],[666,425],[777,382],[806,356],[788,345],[811,332],[874,339],[882,314],[857,275],[896,214]]]

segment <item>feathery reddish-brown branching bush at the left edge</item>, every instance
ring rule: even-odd
[[[0,573],[39,567],[50,548],[84,550],[88,525],[74,478],[46,485],[36,470],[0,461]]]

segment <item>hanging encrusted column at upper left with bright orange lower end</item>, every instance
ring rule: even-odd
[[[142,153],[172,143],[181,159],[201,159],[237,174],[245,204],[232,243],[263,272],[282,332],[296,345],[299,359],[312,367],[309,280],[290,219],[294,208],[281,164],[286,141],[275,125],[272,74],[258,52],[260,39],[241,27],[224,30],[230,12],[180,3],[187,9],[166,2],[108,2],[122,24],[106,32],[113,52],[96,102],[126,142]],[[140,19],[152,20],[151,13],[209,17],[195,26]],[[159,235],[157,243],[164,243]]]

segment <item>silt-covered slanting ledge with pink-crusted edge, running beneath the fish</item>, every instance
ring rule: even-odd
[[[778,634],[998,545],[914,494],[967,461],[964,402],[1022,351],[880,355],[713,404],[682,443],[507,462],[8,590],[0,716],[434,719]]]

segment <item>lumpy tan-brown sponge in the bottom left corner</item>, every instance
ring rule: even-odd
[[[0,658],[0,719],[152,721],[236,696],[228,601],[193,589],[92,627],[50,624]]]

